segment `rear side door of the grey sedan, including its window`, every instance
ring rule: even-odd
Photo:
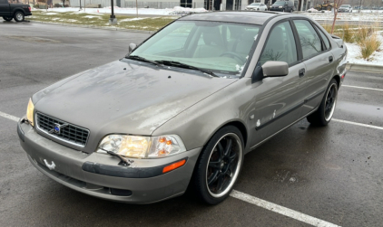
[[[329,40],[322,40],[319,28],[309,20],[293,20],[299,36],[299,51],[306,71],[301,75],[300,89],[304,90],[302,114],[307,115],[319,106],[333,73],[334,56]],[[325,37],[323,37],[325,38]]]

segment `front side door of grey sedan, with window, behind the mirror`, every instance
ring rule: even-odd
[[[301,117],[303,91],[298,90],[300,71],[304,63],[299,61],[297,43],[290,21],[280,22],[270,29],[267,43],[260,54],[258,65],[266,61],[285,61],[289,74],[277,78],[264,78],[254,83],[257,97],[254,104],[254,120],[251,128],[256,129],[252,146],[288,127]],[[258,66],[258,67],[259,67]]]

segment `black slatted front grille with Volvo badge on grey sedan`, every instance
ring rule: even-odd
[[[68,122],[44,115],[42,113],[37,113],[36,119],[37,128],[44,132],[44,134],[49,135],[50,137],[55,137],[78,147],[85,147],[89,137],[88,129],[72,125]],[[54,129],[54,123],[58,123],[60,125],[68,124],[68,126],[61,128],[60,134],[56,134],[54,132],[49,133]]]

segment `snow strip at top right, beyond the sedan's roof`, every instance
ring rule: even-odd
[[[312,13],[305,12],[301,14],[308,15],[314,20],[333,20],[334,13],[331,11],[324,11],[321,13],[320,11],[316,11],[316,9],[309,9]],[[383,10],[378,11],[370,11],[370,10],[362,10],[361,13],[353,12],[353,13],[338,13],[337,15],[338,21],[358,21],[358,22],[383,22]]]

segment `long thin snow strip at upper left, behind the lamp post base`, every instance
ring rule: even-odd
[[[36,10],[36,9],[34,9]],[[46,10],[42,10],[45,11]],[[74,12],[77,14],[111,14],[112,8],[111,7],[104,7],[104,8],[86,8],[79,10],[78,7],[65,7],[65,8],[49,8],[49,12]],[[151,9],[151,8],[139,8],[138,14],[152,14],[152,15],[178,15],[178,14],[187,14],[187,13],[201,13],[201,12],[207,12],[204,8],[183,8],[180,6],[175,6],[171,9]],[[49,14],[49,13],[48,13]],[[115,6],[114,7],[114,14],[136,14],[136,8],[120,8]]]

